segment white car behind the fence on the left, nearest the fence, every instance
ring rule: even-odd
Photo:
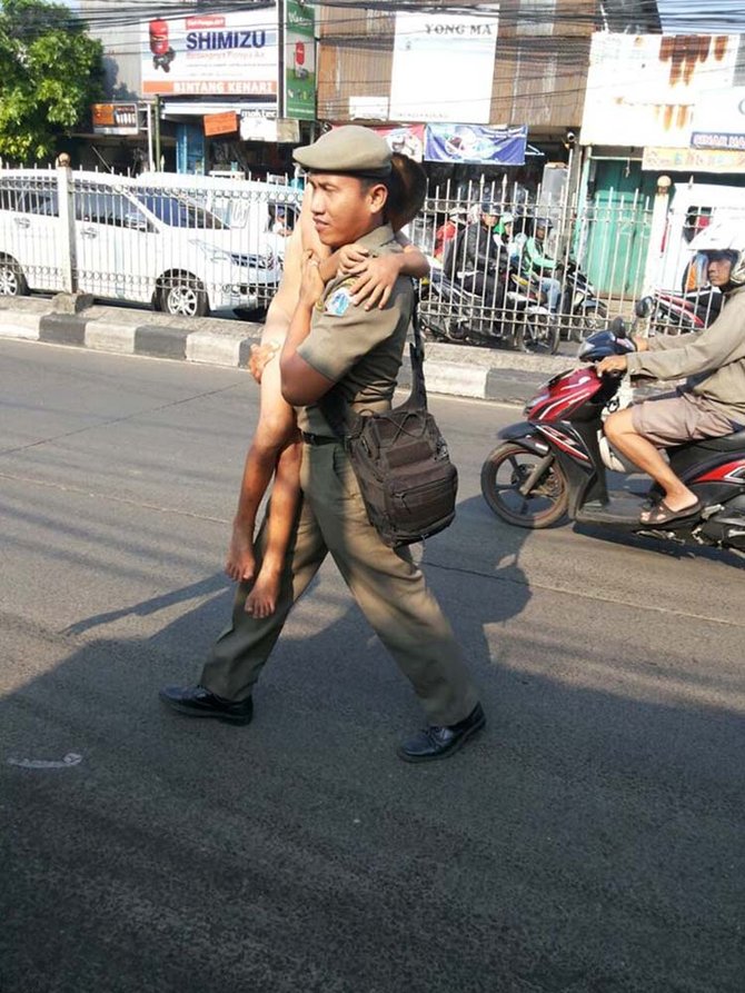
[[[202,316],[259,307],[276,292],[281,266],[266,239],[230,229],[178,189],[73,172],[71,210],[70,232],[56,171],[0,171],[0,294],[61,290],[67,238],[77,288],[103,299]]]

